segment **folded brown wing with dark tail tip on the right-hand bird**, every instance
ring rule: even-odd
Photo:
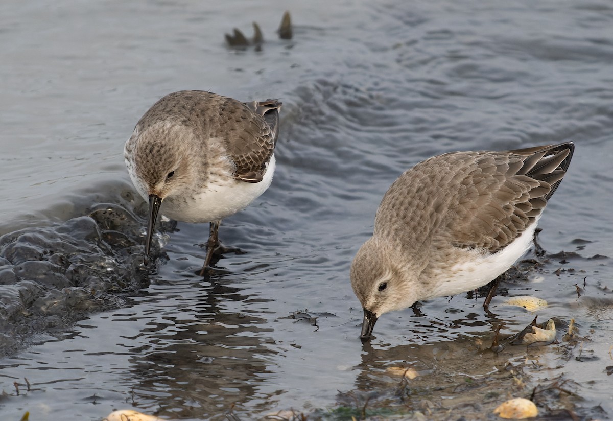
[[[460,248],[496,252],[540,216],[573,156],[573,143],[506,152],[454,153],[457,206],[444,229]]]

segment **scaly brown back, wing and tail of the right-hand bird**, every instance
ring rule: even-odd
[[[573,143],[562,143],[427,159],[390,186],[377,212],[375,235],[391,236],[417,256],[443,240],[497,252],[540,216],[573,151]],[[403,229],[411,220],[420,226]]]

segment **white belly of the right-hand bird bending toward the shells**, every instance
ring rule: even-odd
[[[490,254],[487,250],[466,250],[466,261],[446,268],[436,276],[436,287],[427,298],[461,294],[484,286],[508,270],[532,246],[540,216],[504,249]]]

